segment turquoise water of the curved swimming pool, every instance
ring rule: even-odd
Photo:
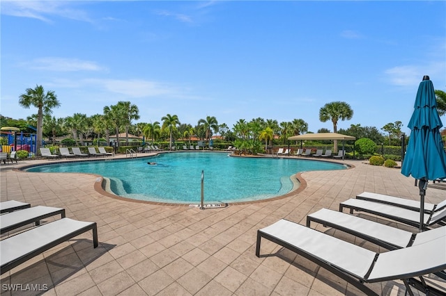
[[[148,165],[154,162],[156,165]],[[312,170],[344,170],[344,165],[289,158],[239,158],[218,152],[167,153],[150,158],[88,161],[32,167],[29,172],[85,172],[110,180],[116,195],[153,202],[199,204],[204,200],[245,202],[277,197],[293,189],[291,176]]]

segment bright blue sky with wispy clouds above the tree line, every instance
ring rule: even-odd
[[[339,122],[406,128],[423,75],[446,90],[446,1],[1,1],[1,115],[26,88],[54,90],[56,117],[131,101],[230,128],[301,118],[346,101]],[[443,124],[446,118],[442,117]]]

